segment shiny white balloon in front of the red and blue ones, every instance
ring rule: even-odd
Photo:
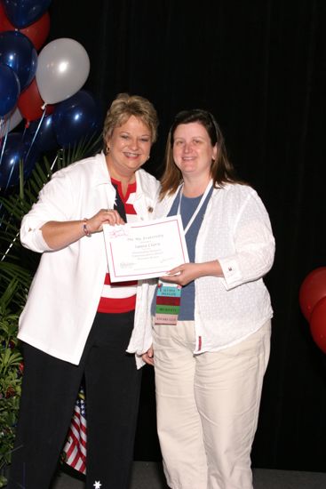
[[[38,55],[36,83],[45,103],[66,100],[80,90],[90,73],[90,59],[75,39],[61,37]]]

